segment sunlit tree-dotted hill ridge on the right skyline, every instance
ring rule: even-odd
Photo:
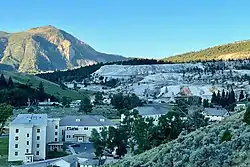
[[[191,62],[208,60],[228,60],[250,58],[250,40],[219,45],[197,52],[188,52],[163,59],[172,62]]]

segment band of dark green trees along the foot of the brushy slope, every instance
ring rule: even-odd
[[[160,144],[176,139],[180,133],[189,133],[208,125],[200,110],[195,110],[183,119],[179,110],[172,110],[158,119],[143,118],[137,110],[124,112],[125,118],[117,128],[93,130],[90,141],[95,154],[101,157],[105,151],[115,151],[121,158],[128,152],[139,154]]]

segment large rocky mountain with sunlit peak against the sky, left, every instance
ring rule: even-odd
[[[0,32],[1,63],[19,72],[72,69],[97,62],[125,58],[98,52],[67,32],[53,26],[18,33]]]

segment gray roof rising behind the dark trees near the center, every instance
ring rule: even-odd
[[[164,115],[169,111],[166,104],[147,104],[141,107],[136,107],[133,110],[138,110],[139,115]]]

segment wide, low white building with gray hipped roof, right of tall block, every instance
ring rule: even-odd
[[[60,120],[60,138],[65,142],[89,142],[93,129],[101,132],[110,126],[115,124],[99,115],[66,116]]]

